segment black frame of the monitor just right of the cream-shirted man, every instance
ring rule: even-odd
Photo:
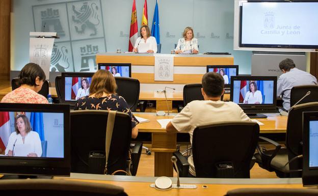
[[[276,111],[277,99],[277,77],[276,76],[232,76],[231,77],[231,92],[230,101],[233,101],[234,80],[273,80],[273,104],[238,104],[245,111],[245,113],[267,113],[269,111]]]

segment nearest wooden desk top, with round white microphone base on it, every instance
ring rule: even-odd
[[[160,191],[150,187],[154,177],[134,176],[105,176],[91,174],[71,173],[70,178],[65,180],[76,180],[84,182],[105,183],[121,186],[129,196],[153,195],[153,196],[183,196],[183,195],[215,195],[224,196],[227,191],[236,188],[309,188],[303,187],[301,178],[284,179],[214,179],[214,178],[180,178],[181,184],[196,184],[196,189],[171,189]],[[176,183],[176,178],[171,178]],[[205,185],[207,188],[203,188]],[[314,187],[311,187],[314,188]]]

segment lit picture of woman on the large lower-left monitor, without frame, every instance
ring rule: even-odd
[[[1,154],[64,158],[63,113],[2,111]]]

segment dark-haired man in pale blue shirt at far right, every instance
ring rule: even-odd
[[[277,96],[282,96],[283,107],[290,108],[290,90],[298,85],[317,85],[317,79],[308,72],[299,70],[292,59],[285,59],[279,63],[283,72],[277,80]]]

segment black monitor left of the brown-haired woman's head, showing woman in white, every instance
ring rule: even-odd
[[[89,95],[89,87],[94,73],[63,72],[62,73],[62,101],[74,105],[76,100]]]

